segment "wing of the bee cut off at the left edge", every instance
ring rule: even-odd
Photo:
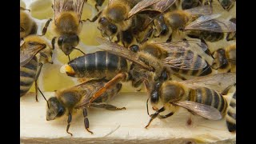
[[[38,54],[40,50],[46,48],[46,44],[41,44],[38,42],[31,42],[30,46],[25,46],[26,42],[24,42],[20,48],[20,66],[24,66],[27,62]]]

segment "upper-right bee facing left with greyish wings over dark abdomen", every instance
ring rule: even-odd
[[[162,30],[166,31],[168,27],[169,38],[166,42],[172,41],[172,38],[180,39],[185,35],[195,38],[204,38],[206,41],[216,41],[214,38],[223,38],[223,33],[236,31],[233,22],[223,20],[220,14],[213,14],[212,6],[198,6],[188,10],[174,10],[163,14],[163,19],[155,19],[154,23],[158,36],[162,34]],[[218,19],[217,19],[218,18]],[[185,33],[184,33],[185,32]],[[162,35],[161,35],[162,34]],[[212,38],[210,35],[214,35]],[[157,36],[157,37],[158,37]],[[214,39],[214,40],[212,40]]]

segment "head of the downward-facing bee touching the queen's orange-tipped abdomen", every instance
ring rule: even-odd
[[[58,38],[58,46],[64,54],[69,55],[75,46],[78,46],[79,37],[77,34],[64,34]]]

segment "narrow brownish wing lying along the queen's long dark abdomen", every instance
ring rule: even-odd
[[[150,71],[153,70],[150,66],[147,66],[144,62],[142,62],[139,59],[138,54],[128,50],[126,47],[119,46],[114,42],[110,42],[109,40],[106,40],[106,38],[96,38],[96,39],[99,43],[102,44],[99,46],[99,49],[106,50],[111,54],[116,54],[122,58],[126,58],[131,62],[134,62],[139,66],[142,66],[146,70],[150,70]]]

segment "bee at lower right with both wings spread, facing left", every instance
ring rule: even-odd
[[[222,91],[234,86],[234,73],[214,74],[190,80],[175,82],[153,82],[150,84],[150,103],[156,112],[150,114],[150,126],[154,118],[168,118],[179,107],[183,107],[192,114],[198,114],[210,120],[220,120],[226,116],[228,104],[222,96]],[[155,108],[161,106],[160,109]],[[161,115],[163,111],[169,114]]]

